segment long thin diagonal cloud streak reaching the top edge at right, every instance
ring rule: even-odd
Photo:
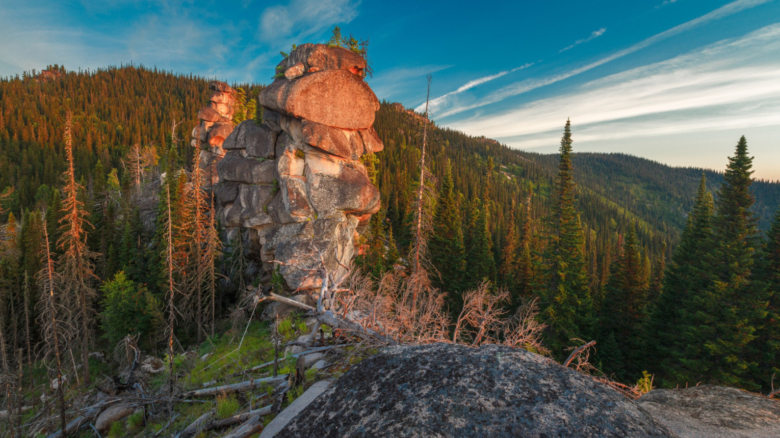
[[[540,87],[545,87],[553,83],[560,82],[564,79],[569,79],[570,77],[579,75],[582,72],[587,72],[590,69],[595,69],[600,65],[604,65],[608,62],[612,62],[615,59],[622,58],[636,51],[640,51],[644,48],[650,47],[652,44],[658,43],[659,41],[663,41],[669,37],[682,34],[683,32],[686,32],[687,30],[691,30],[697,26],[701,26],[706,23],[711,23],[716,19],[722,19],[726,16],[731,16],[733,14],[736,14],[737,12],[741,12],[745,9],[750,9],[757,5],[762,5],[764,3],[768,3],[771,1],[773,0],[737,0],[736,2],[731,2],[727,5],[722,6],[721,8],[715,9],[714,11],[705,14],[704,16],[700,16],[696,19],[692,19],[686,23],[680,24],[679,26],[672,27],[671,29],[661,32],[660,34],[655,34],[652,37],[649,37],[644,41],[640,41],[639,43],[636,43],[629,48],[625,48],[621,51],[617,51],[612,55],[609,55],[605,58],[598,59],[597,61],[591,62],[590,64],[583,65],[577,69],[570,70],[569,72],[562,72],[554,76],[548,76],[546,78],[525,79],[517,83],[512,83],[509,86],[502,87],[501,89],[495,90],[491,94],[488,94],[487,97],[480,99],[480,101],[476,103],[449,108],[446,111],[443,111],[441,114],[439,114],[438,117],[444,118],[449,115],[455,115],[463,111],[484,107],[485,105],[489,105],[489,104],[495,104],[496,102],[503,101],[509,97],[527,93],[530,90],[535,90]]]

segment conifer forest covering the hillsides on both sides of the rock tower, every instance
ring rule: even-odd
[[[109,377],[141,351],[165,367],[145,383],[161,399],[203,371],[185,363],[187,351],[216,358],[244,342],[274,361],[265,336],[292,336],[301,322],[261,321],[264,304],[247,305],[260,288],[291,291],[276,272],[261,274],[240,234],[228,238],[200,183],[190,131],[210,79],[135,64],[45,72],[0,79],[0,422],[9,436],[40,433],[44,417],[56,422],[47,430],[68,430],[80,391],[137,384]],[[232,122],[260,121],[264,86],[232,87]],[[774,391],[780,182],[753,178],[761,157],[750,138],[729,139],[724,169],[672,168],[580,153],[577,122],[560,121],[558,154],[535,154],[381,102],[374,129],[385,149],[361,158],[381,207],[352,270],[368,296],[410,290],[412,313],[418,290],[438,302],[424,323],[438,327],[431,340],[509,342],[502,316],[525,318],[538,337],[519,344],[558,362],[595,341],[583,369],[625,386],[651,378]],[[470,316],[477,298],[495,320]],[[420,327],[397,339],[423,339]],[[205,370],[193,388],[249,363],[234,362]],[[216,412],[239,401],[218,399]],[[171,416],[145,421],[172,433],[199,407],[179,408],[170,426]]]

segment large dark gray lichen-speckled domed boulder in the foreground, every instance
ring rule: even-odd
[[[498,345],[390,347],[363,360],[276,435],[677,436],[617,391]]]

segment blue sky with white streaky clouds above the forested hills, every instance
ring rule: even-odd
[[[780,179],[780,0],[0,0],[0,76],[129,62],[268,83],[279,51],[368,39],[380,99],[439,125],[554,153],[722,170],[739,136]]]

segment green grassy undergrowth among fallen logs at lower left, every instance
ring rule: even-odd
[[[180,390],[190,391],[204,387],[215,387],[229,383],[238,383],[250,379],[257,379],[264,376],[270,376],[273,372],[273,366],[267,366],[257,372],[242,373],[253,366],[271,362],[274,359],[274,322],[252,321],[248,326],[240,327],[235,330],[227,330],[222,334],[207,339],[204,343],[190,347],[190,352],[186,355],[177,354],[174,357],[174,373],[177,376],[176,387]],[[283,320],[278,320],[278,334],[282,338],[282,345],[295,341],[303,334],[310,332],[303,320],[303,316],[293,314]],[[279,363],[278,374],[294,373],[296,359],[291,354],[284,355],[284,347],[278,349]],[[146,352],[144,352],[146,354]],[[205,359],[201,359],[207,356]],[[166,371],[163,373],[147,376],[145,379],[145,394],[163,394],[165,397],[168,387],[168,358],[165,355],[158,355],[165,361]],[[90,375],[93,376],[94,383],[105,381],[106,376],[113,376],[119,373],[119,363],[102,363],[90,359]],[[236,374],[236,376],[232,376]],[[332,370],[329,373],[320,373],[315,369],[309,369],[306,373],[306,383],[303,386],[294,387],[288,392],[282,403],[285,408],[289,403],[295,401],[303,392],[314,384],[317,380],[324,378],[332,379],[339,376],[339,370]],[[35,380],[43,390],[44,383],[48,382],[43,366],[31,369],[25,373],[25,377]],[[66,383],[68,391],[67,397],[71,398],[78,394],[78,387],[75,382]],[[204,415],[210,410],[214,410],[217,419],[225,419],[241,412],[246,412],[250,408],[261,408],[271,404],[268,397],[273,388],[265,385],[257,387],[246,393],[223,394],[218,397],[200,397],[200,401],[190,403],[175,403],[173,412],[170,415],[145,415],[144,412],[137,412],[126,419],[116,422],[102,436],[111,436],[115,438],[140,438],[142,436],[153,436],[155,433],[163,430],[158,436],[172,436],[179,433],[186,426],[190,425],[195,419]],[[94,390],[93,390],[94,391]],[[28,422],[37,414],[39,408],[24,412],[21,422]],[[273,419],[273,415],[264,418],[264,422]],[[225,429],[200,433],[196,435],[201,438],[222,436],[228,431]],[[2,434],[0,434],[2,436]],[[82,429],[73,436],[94,436],[91,430]]]

